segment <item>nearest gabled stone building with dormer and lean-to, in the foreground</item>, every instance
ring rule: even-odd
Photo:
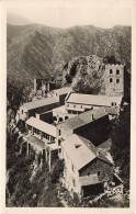
[[[104,192],[113,181],[113,164],[88,139],[76,134],[61,143],[64,184],[81,196]]]

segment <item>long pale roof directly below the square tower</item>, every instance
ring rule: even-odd
[[[94,95],[94,94],[82,94],[82,93],[70,93],[67,99],[68,103],[87,104],[87,105],[102,105],[111,106],[112,102],[116,102],[117,105],[122,102],[121,97],[107,97],[107,95]]]

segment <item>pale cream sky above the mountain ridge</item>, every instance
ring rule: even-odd
[[[94,25],[110,29],[114,25],[132,25],[129,8],[115,7],[9,7],[8,23],[22,25],[39,23],[55,27]]]

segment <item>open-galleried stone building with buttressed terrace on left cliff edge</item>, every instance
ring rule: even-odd
[[[58,156],[56,126],[33,116],[25,122],[25,126],[26,133],[22,135],[21,154],[25,150],[29,157],[34,157],[37,166],[48,162],[50,171],[53,158]]]

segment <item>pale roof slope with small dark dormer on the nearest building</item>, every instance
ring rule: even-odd
[[[80,146],[76,148],[76,145]],[[88,147],[76,134],[64,140],[61,143],[61,146],[78,170],[88,165],[97,157],[93,151],[88,149]]]

